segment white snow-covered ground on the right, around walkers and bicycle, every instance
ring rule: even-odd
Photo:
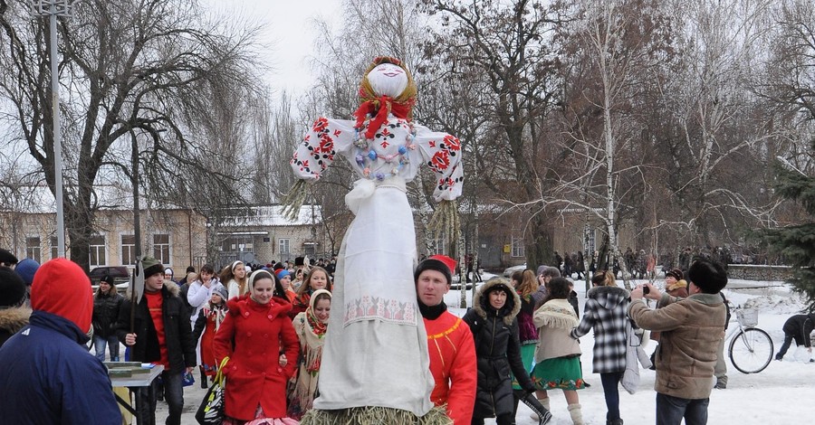
[[[488,275],[484,279],[488,279]],[[636,284],[640,281],[634,281]],[[661,283],[657,280],[657,284]],[[620,283],[621,285],[621,283]],[[584,285],[575,285],[580,297],[580,308],[585,301]],[[468,291],[469,292],[469,291]],[[782,282],[755,282],[731,280],[724,289],[724,295],[735,305],[757,307],[759,323],[757,327],[772,336],[774,352],[777,353],[783,342],[781,326],[789,316],[799,314],[803,307],[800,297],[791,294],[788,286]],[[459,305],[461,295],[458,290],[451,290],[445,297],[450,311],[464,316],[465,309],[453,308]],[[470,294],[467,303],[470,305]],[[654,304],[653,302],[651,303]],[[580,339],[583,364],[583,377],[591,384],[590,388],[578,392],[583,409],[583,419],[590,425],[606,423],[606,405],[603,399],[599,374],[591,373],[591,349],[593,335]],[[650,354],[654,350],[653,341],[646,346]],[[726,346],[725,346],[725,355]],[[730,359],[727,360],[729,382],[726,390],[714,390],[710,396],[708,409],[711,425],[717,424],[787,424],[810,423],[815,417],[815,363],[810,363],[810,354],[806,348],[798,348],[792,343],[790,351],[782,362],[772,361],[761,373],[744,374],[735,370]],[[620,387],[620,413],[627,425],[655,423],[656,392],[654,392],[654,371],[640,372],[640,387],[635,394],[628,394]],[[711,381],[711,386],[714,382]],[[553,425],[571,423],[566,401],[562,392],[549,392]],[[530,419],[531,411],[523,404],[516,417],[518,425],[537,423]],[[486,423],[493,424],[494,420]]]

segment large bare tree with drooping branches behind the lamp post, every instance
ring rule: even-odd
[[[5,40],[0,67],[11,70],[0,76],[0,96],[13,109],[7,125],[24,140],[53,192],[52,97],[44,82],[50,77],[48,57],[56,52],[44,49],[47,25],[31,19],[29,11],[23,0],[0,0]],[[61,20],[58,31],[64,52],[59,78],[68,95],[61,105],[69,153],[66,230],[72,260],[87,268],[99,207],[94,184],[106,163],[128,163],[110,156],[127,150],[116,146],[129,146],[132,132],[151,142],[151,164],[186,165],[191,181],[204,177],[202,185],[232,185],[213,183],[232,170],[209,168],[207,158],[232,152],[220,142],[241,136],[238,117],[225,110],[235,105],[220,101],[252,87],[257,28],[208,19],[194,0],[89,0],[76,5],[74,17]],[[215,124],[207,128],[206,123]]]

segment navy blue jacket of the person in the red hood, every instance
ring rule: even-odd
[[[110,378],[71,320],[34,310],[0,347],[3,423],[120,424]]]

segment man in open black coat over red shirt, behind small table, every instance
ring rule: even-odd
[[[117,335],[131,347],[134,362],[162,364],[164,397],[168,403],[168,425],[181,423],[184,409],[184,373],[196,365],[196,343],[189,323],[187,307],[178,297],[180,289],[164,279],[164,266],[152,257],[141,260],[144,267],[144,297],[136,308],[136,319],[130,329],[129,299],[120,308]],[[153,385],[158,385],[153,382]],[[156,397],[154,391],[139,390],[136,397],[138,422],[156,423]]]

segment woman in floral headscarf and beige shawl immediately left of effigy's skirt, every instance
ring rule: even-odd
[[[292,325],[300,340],[300,367],[294,375],[294,391],[289,394],[289,417],[300,420],[312,409],[322,363],[322,345],[331,315],[331,292],[318,289],[312,293],[306,311],[294,317]]]

